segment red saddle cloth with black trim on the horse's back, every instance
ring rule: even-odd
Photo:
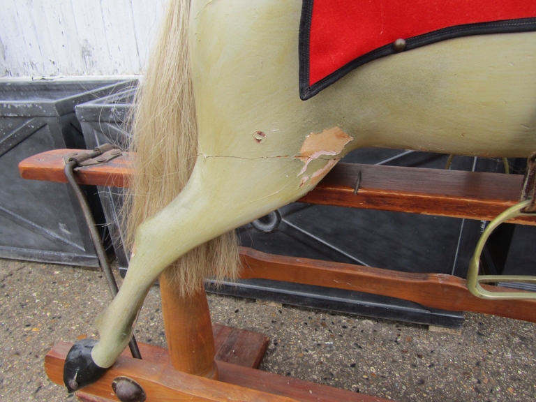
[[[536,0],[304,0],[299,91],[304,101],[362,64],[468,35],[536,30]],[[399,41],[397,47],[394,42]]]

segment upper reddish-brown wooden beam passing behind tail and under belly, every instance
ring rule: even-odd
[[[69,152],[31,156],[20,163],[20,173],[25,179],[66,182],[63,157]],[[128,186],[132,162],[133,155],[125,153],[107,165],[80,168],[77,178],[81,184]],[[354,194],[359,172],[361,186]],[[491,221],[516,204],[522,180],[516,174],[339,163],[298,202]],[[536,225],[536,216],[510,222]]]

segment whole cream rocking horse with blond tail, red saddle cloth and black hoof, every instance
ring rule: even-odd
[[[535,30],[521,0],[172,1],[135,111],[128,274],[68,355],[69,392],[114,364],[165,269],[184,297],[236,276],[233,230],[348,152],[528,157]]]

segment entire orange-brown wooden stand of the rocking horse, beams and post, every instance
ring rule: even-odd
[[[19,165],[23,178],[66,182],[58,149]],[[79,184],[128,186],[133,155],[77,168]],[[357,177],[359,188],[356,192]],[[338,164],[300,202],[405,211],[491,220],[516,204],[522,177],[506,174]],[[510,222],[536,225],[535,216]],[[470,294],[463,279],[445,274],[408,274],[358,265],[269,255],[241,249],[241,278],[266,278],[398,297],[450,311],[475,311],[536,322],[536,301],[484,300]],[[168,350],[140,344],[143,357],[124,352],[103,378],[77,392],[82,401],[383,401],[312,382],[256,370],[268,338],[211,325],[204,291],[180,298],[161,279]],[[501,289],[482,285],[489,292]],[[511,291],[511,290],[509,290]],[[519,291],[521,292],[521,291]],[[63,385],[70,343],[60,342],[45,357],[50,379]],[[216,380],[219,380],[216,382]]]

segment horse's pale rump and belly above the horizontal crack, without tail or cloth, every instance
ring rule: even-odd
[[[205,156],[292,158],[308,135],[334,127],[353,140],[333,158],[357,147],[489,156],[536,150],[536,32],[392,54],[301,101],[301,1],[196,4],[191,52]]]

